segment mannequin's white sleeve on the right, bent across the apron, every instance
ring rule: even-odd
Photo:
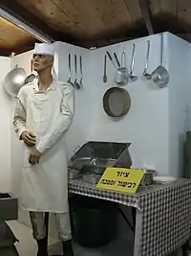
[[[53,147],[59,141],[63,134],[70,128],[74,118],[74,88],[72,85],[62,86],[62,102],[60,106],[60,113],[49,128],[48,132],[40,138],[36,146],[36,150],[43,153],[44,151]]]

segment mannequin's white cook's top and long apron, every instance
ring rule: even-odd
[[[64,133],[73,119],[73,93],[70,85],[60,84],[58,81],[53,81],[45,93],[39,92],[37,81],[28,88],[23,87],[23,91],[19,93],[19,101],[26,111],[26,128],[36,136],[36,149],[43,151],[39,164],[31,165],[29,155],[32,149],[23,144],[19,203],[24,210],[68,212],[68,171]],[[14,126],[19,133],[21,127],[17,116],[15,110]]]

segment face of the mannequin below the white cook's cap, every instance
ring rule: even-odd
[[[33,55],[32,57],[33,70],[40,73],[46,69],[52,70],[53,56],[49,55]]]

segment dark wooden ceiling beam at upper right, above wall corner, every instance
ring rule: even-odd
[[[148,0],[138,0],[140,10],[142,12],[142,16],[144,19],[144,23],[146,25],[147,31],[149,35],[154,34],[153,25],[151,22],[151,12],[149,9],[149,3]]]

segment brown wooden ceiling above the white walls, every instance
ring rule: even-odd
[[[190,0],[0,0],[0,8],[53,40],[84,47],[164,31],[191,38]],[[33,42],[31,35],[0,20],[0,50]]]

